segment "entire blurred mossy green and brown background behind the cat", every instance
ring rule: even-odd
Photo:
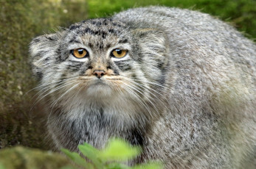
[[[32,37],[86,18],[106,17],[131,7],[164,5],[207,12],[256,37],[255,0],[0,0],[0,148],[49,149],[43,104],[28,64]]]

